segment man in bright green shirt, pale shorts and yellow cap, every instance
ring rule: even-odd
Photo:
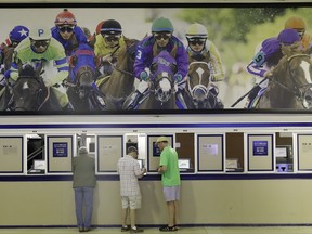
[[[161,226],[161,232],[174,232],[177,227],[178,200],[180,199],[180,171],[178,165],[178,153],[169,145],[169,139],[160,136],[156,141],[161,151],[158,172],[161,173],[164,196],[168,207],[168,225]]]

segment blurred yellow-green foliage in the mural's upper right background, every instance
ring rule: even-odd
[[[198,22],[208,29],[208,37],[219,49],[226,70],[235,62],[251,61],[257,44],[276,37],[292,15],[312,24],[311,8],[205,8],[183,9],[177,17],[192,24]]]

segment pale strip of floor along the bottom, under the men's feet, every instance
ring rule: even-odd
[[[77,229],[0,229],[0,234],[74,234],[79,233]],[[121,233],[120,229],[98,227],[90,234],[114,234]],[[123,232],[125,234],[127,232]],[[144,233],[162,233],[155,227],[144,229]],[[312,226],[270,226],[270,227],[181,227],[179,233],[190,234],[312,234]]]

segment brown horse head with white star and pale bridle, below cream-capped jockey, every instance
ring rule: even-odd
[[[210,57],[199,61],[197,58],[188,57],[187,89],[195,108],[209,108]]]

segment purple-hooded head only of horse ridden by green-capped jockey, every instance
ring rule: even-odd
[[[161,103],[168,102],[174,93],[173,76],[177,73],[177,62],[167,51],[161,51],[153,58],[151,82],[155,99]]]

